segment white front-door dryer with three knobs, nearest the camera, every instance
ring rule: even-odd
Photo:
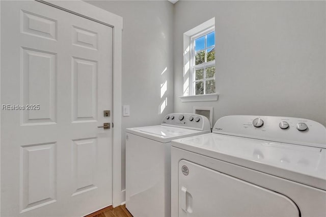
[[[172,141],[172,216],[326,216],[326,129],[303,118],[226,116]]]

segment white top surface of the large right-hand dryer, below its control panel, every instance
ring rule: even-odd
[[[209,133],[172,146],[326,190],[326,149]]]

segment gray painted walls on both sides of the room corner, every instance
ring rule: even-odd
[[[325,2],[87,2],[123,17],[122,103],[130,105],[130,117],[122,118],[123,169],[125,128],[159,124],[168,113],[192,113],[193,106],[214,106],[213,122],[248,114],[326,125]],[[183,33],[212,17],[220,98],[181,102]]]

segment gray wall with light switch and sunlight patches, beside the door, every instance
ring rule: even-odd
[[[130,105],[130,117],[122,117],[124,189],[125,129],[157,125],[173,112],[173,5],[168,1],[87,2],[123,17],[122,104]],[[164,82],[167,91],[161,97]],[[167,107],[159,114],[166,98]]]

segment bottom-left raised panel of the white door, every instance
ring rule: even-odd
[[[57,200],[56,143],[21,147],[20,209],[22,212]]]

